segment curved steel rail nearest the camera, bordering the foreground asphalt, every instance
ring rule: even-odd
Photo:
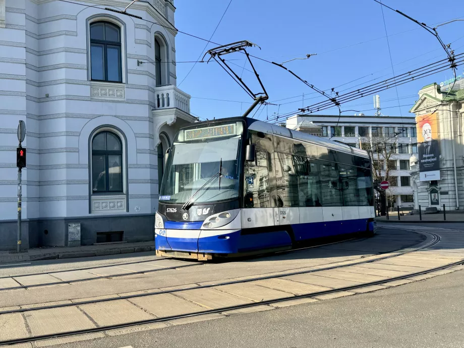
[[[436,242],[436,243],[438,243],[438,242]],[[411,278],[411,277],[414,277],[414,276],[423,275],[423,274],[427,274],[427,273],[431,273],[431,272],[436,272],[436,271],[439,271],[439,270],[442,270],[442,269],[446,269],[446,268],[461,265],[461,264],[464,264],[464,259],[456,261],[456,262],[452,262],[452,263],[449,263],[449,264],[446,264],[446,265],[443,265],[443,266],[434,267],[432,269],[427,269],[427,270],[423,270],[423,271],[419,271],[419,272],[400,275],[400,276],[387,278],[387,279],[382,279],[382,280],[371,281],[371,282],[368,282],[368,283],[362,283],[362,284],[358,284],[358,285],[344,286],[344,287],[340,287],[340,288],[336,288],[336,289],[329,289],[329,290],[319,291],[319,292],[314,292],[314,293],[306,293],[306,294],[302,294],[302,295],[288,296],[288,297],[285,297],[285,298],[254,302],[254,303],[249,303],[249,304],[244,304],[244,305],[222,307],[222,308],[217,308],[217,309],[211,309],[211,310],[205,310],[205,311],[187,313],[187,314],[181,314],[181,315],[173,315],[173,316],[167,316],[167,317],[162,317],[162,318],[153,318],[153,319],[139,320],[139,321],[133,321],[133,322],[129,322],[129,323],[123,323],[123,324],[114,324],[114,325],[101,326],[101,327],[90,328],[90,329],[74,330],[74,331],[67,331],[67,332],[60,332],[60,333],[53,333],[53,334],[38,335],[38,336],[33,336],[33,337],[4,340],[4,341],[0,341],[0,345],[28,343],[28,342],[33,342],[33,341],[45,340],[45,339],[52,339],[52,338],[59,338],[59,337],[66,337],[66,336],[74,336],[74,335],[80,335],[80,334],[89,334],[89,333],[102,332],[102,331],[114,330],[114,329],[122,329],[122,328],[127,328],[127,327],[131,327],[131,326],[136,326],[136,325],[153,324],[153,323],[165,322],[165,321],[176,320],[176,319],[197,317],[197,316],[201,316],[201,315],[205,315],[205,314],[222,313],[222,312],[227,312],[227,311],[233,311],[233,310],[239,310],[239,309],[245,309],[245,308],[252,308],[252,307],[256,307],[256,306],[271,305],[271,304],[278,303],[278,302],[285,302],[285,301],[306,299],[306,298],[322,296],[322,295],[328,295],[328,294],[335,294],[335,293],[339,293],[339,292],[343,292],[343,291],[350,291],[350,290],[359,289],[359,288],[363,288],[363,287],[367,287],[367,286],[384,284],[384,283],[388,283],[388,282],[395,281],[395,280],[407,279],[407,278]],[[217,286],[217,284],[214,285],[214,286]],[[183,290],[185,290],[185,289],[183,289]]]

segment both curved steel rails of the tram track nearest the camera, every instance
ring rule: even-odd
[[[300,271],[300,272],[284,273],[284,274],[277,274],[277,275],[268,275],[268,276],[264,276],[264,277],[255,277],[255,278],[241,279],[241,280],[228,281],[228,282],[222,282],[222,283],[221,282],[212,283],[212,284],[207,284],[207,285],[193,286],[193,287],[190,287],[190,288],[171,289],[169,291],[163,291],[163,292],[137,294],[137,295],[132,295],[132,296],[125,296],[125,297],[118,297],[118,298],[111,298],[111,299],[101,299],[101,300],[95,300],[95,301],[84,301],[84,302],[80,302],[80,303],[75,302],[75,303],[72,303],[72,304],[61,304],[61,305],[54,305],[54,306],[35,307],[35,308],[30,308],[30,309],[2,311],[2,312],[0,312],[0,315],[8,314],[8,313],[30,312],[30,311],[43,310],[43,309],[53,309],[53,308],[60,308],[60,307],[81,306],[81,305],[84,305],[84,304],[108,302],[108,301],[114,301],[114,300],[124,300],[124,299],[131,299],[131,298],[144,297],[144,296],[150,296],[150,295],[172,294],[172,293],[177,293],[177,292],[181,292],[181,291],[188,292],[190,289],[201,289],[201,288],[222,286],[222,285],[227,285],[227,284],[247,283],[247,282],[253,282],[253,281],[263,280],[263,279],[280,278],[280,277],[286,277],[286,276],[289,276],[289,275],[305,274],[305,273],[312,273],[312,272],[318,272],[318,271],[323,271],[323,270],[350,267],[350,266],[354,266],[354,265],[372,263],[372,262],[381,261],[381,260],[385,260],[385,259],[389,259],[389,258],[394,258],[394,257],[402,256],[402,255],[405,255],[405,254],[413,253],[413,252],[416,252],[416,251],[422,251],[424,249],[431,248],[432,246],[436,245],[437,243],[439,243],[441,241],[441,237],[439,235],[436,235],[436,234],[431,233],[429,231],[421,231],[421,233],[428,234],[429,236],[432,237],[432,240],[429,241],[426,244],[424,244],[424,242],[423,242],[422,243],[423,245],[421,247],[413,249],[413,250],[405,250],[403,252],[394,253],[394,255],[385,255],[385,256],[374,258],[374,259],[358,261],[358,262],[349,263],[349,264],[334,265],[334,266],[331,266],[331,267],[322,267],[322,268],[319,267],[319,268]],[[443,269],[446,269],[446,268],[449,268],[449,267],[462,265],[462,264],[464,264],[464,259],[461,259],[461,260],[458,260],[458,261],[455,261],[455,262],[451,262],[451,263],[447,263],[447,264],[444,264],[444,265],[440,265],[440,266],[437,266],[437,267],[433,267],[433,268],[429,268],[429,269],[425,269],[425,270],[420,270],[420,271],[413,272],[413,273],[398,275],[398,276],[394,276],[394,277],[389,277],[389,278],[379,279],[379,280],[374,280],[374,281],[369,281],[369,282],[363,282],[363,283],[356,284],[356,285],[342,286],[342,287],[331,288],[331,289],[318,291],[318,292],[308,292],[308,293],[304,293],[304,294],[301,294],[301,295],[292,295],[292,296],[280,297],[280,298],[271,299],[271,300],[255,301],[255,302],[251,302],[251,303],[234,305],[234,306],[224,306],[224,307],[220,307],[220,308],[206,309],[206,310],[202,310],[202,311],[196,311],[196,312],[190,312],[190,313],[184,313],[184,314],[155,317],[155,318],[147,319],[147,320],[138,320],[138,321],[131,321],[131,322],[127,322],[127,323],[104,325],[104,326],[81,329],[81,330],[70,330],[70,331],[66,331],[66,332],[57,332],[57,333],[52,333],[52,334],[43,334],[43,335],[35,335],[35,336],[31,336],[31,337],[3,340],[3,341],[0,341],[0,345],[27,343],[27,342],[38,341],[38,340],[46,340],[46,339],[51,339],[51,338],[59,338],[59,337],[74,336],[74,335],[81,335],[81,334],[90,334],[90,333],[95,333],[95,332],[103,332],[103,331],[115,330],[115,329],[123,329],[123,328],[128,328],[128,327],[137,326],[137,325],[161,323],[161,322],[166,322],[166,321],[171,321],[171,320],[176,320],[176,319],[185,319],[185,318],[197,317],[197,316],[202,316],[202,315],[207,315],[207,314],[217,314],[217,313],[223,313],[223,312],[228,312],[228,311],[247,309],[247,308],[252,308],[252,307],[256,307],[256,306],[272,305],[272,304],[275,304],[275,303],[286,302],[286,301],[291,301],[291,300],[306,299],[306,298],[313,298],[313,297],[317,297],[317,296],[336,294],[336,293],[339,293],[339,292],[353,291],[353,290],[356,290],[356,289],[360,289],[360,288],[368,287],[368,286],[373,286],[373,285],[387,284],[389,282],[396,281],[396,280],[408,279],[408,278],[428,274],[428,273],[431,273],[431,272],[437,272],[437,271],[440,271],[440,270],[443,270]]]

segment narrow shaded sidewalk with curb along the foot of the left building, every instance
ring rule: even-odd
[[[0,251],[0,264],[24,261],[71,259],[154,251],[153,242],[86,245],[80,247],[33,248],[20,252]]]

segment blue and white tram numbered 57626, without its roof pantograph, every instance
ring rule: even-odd
[[[366,151],[249,118],[195,123],[169,149],[156,253],[208,260],[373,233]]]

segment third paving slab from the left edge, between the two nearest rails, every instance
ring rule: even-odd
[[[126,300],[115,300],[79,306],[99,326],[124,324],[132,321],[152,319],[154,316]]]

